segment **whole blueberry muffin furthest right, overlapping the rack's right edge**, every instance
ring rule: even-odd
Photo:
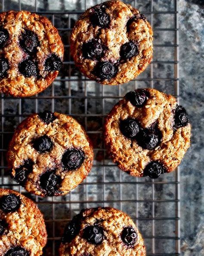
[[[115,163],[133,176],[173,171],[190,146],[189,117],[176,99],[154,89],[127,93],[105,122],[105,144]]]

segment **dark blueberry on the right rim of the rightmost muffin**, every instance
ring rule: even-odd
[[[188,125],[189,123],[189,116],[186,113],[185,109],[178,105],[175,109],[175,114],[174,114],[174,127],[179,128],[179,127],[184,127]]]

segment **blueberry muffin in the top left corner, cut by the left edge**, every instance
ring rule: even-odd
[[[28,11],[0,13],[0,90],[32,96],[46,89],[62,67],[64,48],[46,17]]]

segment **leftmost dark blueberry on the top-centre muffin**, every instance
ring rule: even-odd
[[[84,43],[82,46],[83,57],[88,59],[100,58],[103,54],[102,45],[96,41],[92,40],[90,42]]]

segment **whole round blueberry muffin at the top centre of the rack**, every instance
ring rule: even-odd
[[[152,30],[139,10],[105,2],[80,16],[71,34],[76,66],[90,79],[116,85],[137,77],[152,58]]]

